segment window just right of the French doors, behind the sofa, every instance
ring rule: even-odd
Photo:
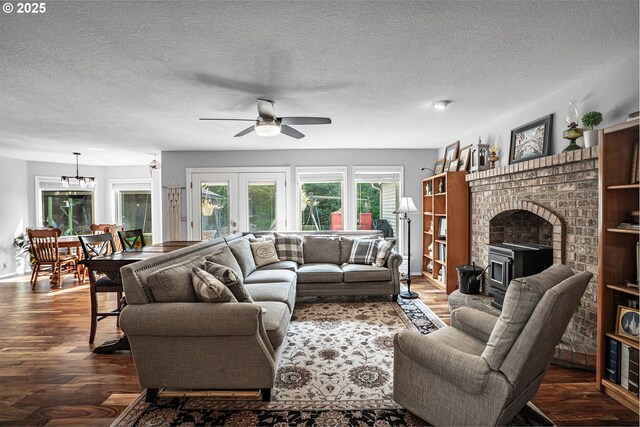
[[[346,168],[298,168],[300,230],[344,229]]]

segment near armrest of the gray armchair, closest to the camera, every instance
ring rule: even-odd
[[[394,351],[404,353],[421,367],[467,393],[480,394],[489,379],[491,369],[482,357],[456,350],[419,332],[396,334]]]

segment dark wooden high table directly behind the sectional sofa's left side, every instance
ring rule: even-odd
[[[199,240],[173,240],[144,246],[138,249],[130,249],[121,252],[114,252],[110,255],[101,255],[86,259],[83,264],[89,269],[89,282],[95,285],[96,273],[105,274],[116,283],[122,283],[120,268],[136,261],[156,257],[167,252],[172,252],[180,248],[186,248],[200,243]],[[122,306],[126,305],[126,295],[123,295]],[[108,354],[118,350],[130,350],[129,340],[126,335],[119,339],[110,340],[93,349],[97,354]]]

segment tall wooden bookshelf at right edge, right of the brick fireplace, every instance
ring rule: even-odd
[[[598,242],[598,353],[596,387],[638,412],[638,396],[607,378],[608,343],[614,340],[638,349],[638,339],[616,334],[618,306],[637,301],[637,288],[629,287],[637,276],[636,245],[640,232],[620,228],[631,220],[640,205],[640,184],[633,182],[633,159],[638,164],[638,120],[600,131],[599,157],[599,242]],[[611,365],[610,365],[611,366]],[[620,367],[618,367],[620,372]],[[618,379],[621,377],[619,373]],[[618,381],[620,382],[620,381]]]

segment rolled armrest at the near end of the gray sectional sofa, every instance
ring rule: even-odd
[[[258,335],[261,321],[262,309],[250,303],[130,304],[120,313],[120,327],[128,335]]]

